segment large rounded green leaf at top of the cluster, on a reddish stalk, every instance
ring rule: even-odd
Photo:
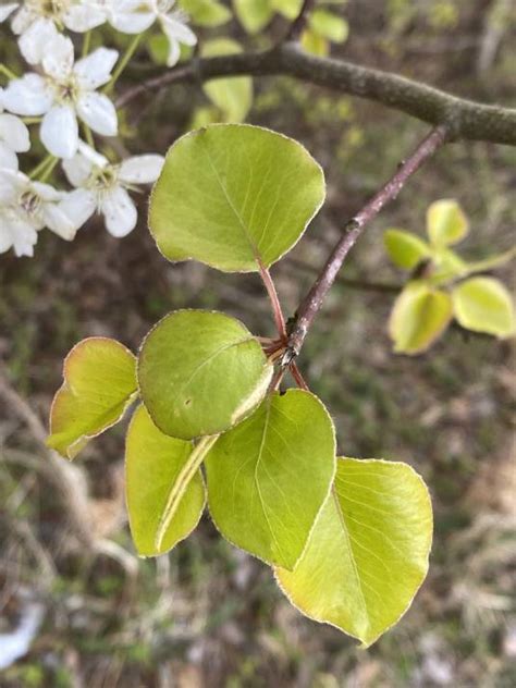
[[[294,246],[323,199],[322,170],[298,143],[258,126],[213,124],[170,148],[149,224],[169,260],[258,271]]]

